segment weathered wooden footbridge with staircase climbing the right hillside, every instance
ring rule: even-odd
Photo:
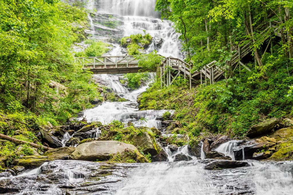
[[[261,28],[263,30],[260,33],[260,39],[263,39],[263,42],[272,36],[281,37],[276,22],[270,22],[269,26],[263,25]],[[272,31],[272,34],[266,34],[265,32],[267,31]],[[251,55],[252,42],[240,46],[243,45],[243,43],[244,42],[239,43],[238,48],[234,48],[236,53],[233,54],[230,61],[225,62],[226,66],[220,66],[217,61],[212,61],[205,65],[201,70],[192,71],[192,63],[186,63],[181,59],[173,58],[171,56],[165,58],[160,65],[161,87],[168,87],[179,75],[182,75],[184,79],[189,80],[190,88],[192,85],[199,84],[199,81],[201,84],[205,81],[205,84],[207,85],[209,80],[209,83],[213,84],[217,80],[224,78],[223,73],[227,66],[232,68],[233,71],[238,66],[240,70],[242,66],[247,71],[251,71],[245,63],[243,63],[242,59]],[[265,52],[270,43],[272,46],[270,40]],[[140,69],[138,66],[138,60],[135,56],[80,57],[76,58],[76,61],[82,65],[83,69],[89,68],[94,74],[137,73]]]

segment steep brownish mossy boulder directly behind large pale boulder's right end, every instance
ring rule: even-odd
[[[151,135],[149,135],[148,132],[135,134],[133,140],[134,145],[142,147],[144,149],[143,152],[145,154],[150,153],[151,156],[155,156],[158,154],[156,142],[154,138]]]

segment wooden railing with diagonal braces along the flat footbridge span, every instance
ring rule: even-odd
[[[104,66],[107,68],[107,65],[128,65],[129,64],[137,64],[138,59],[134,56],[101,56],[101,57],[78,57],[76,58],[76,62],[82,65],[82,68],[87,68],[86,66]]]

